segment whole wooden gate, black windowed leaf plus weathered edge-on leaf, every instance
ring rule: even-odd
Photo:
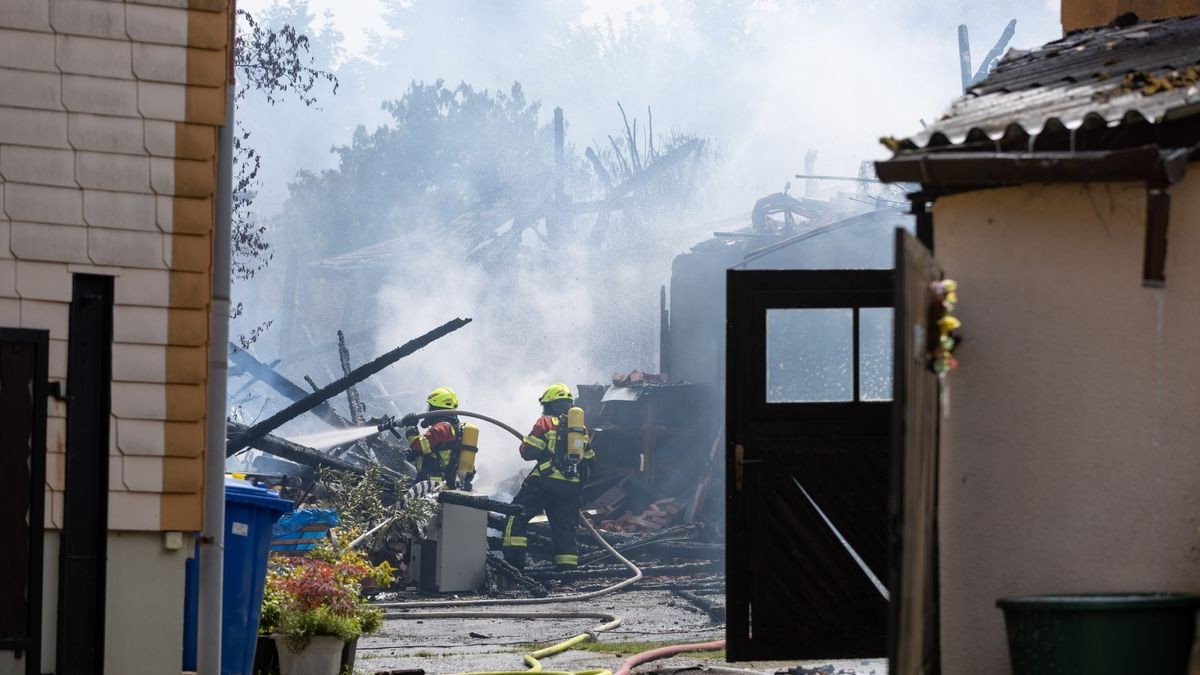
[[[727,655],[937,673],[929,251],[894,270],[728,273]]]

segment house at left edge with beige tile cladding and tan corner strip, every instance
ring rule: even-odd
[[[180,670],[229,35],[0,2],[0,674]]]

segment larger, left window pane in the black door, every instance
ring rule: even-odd
[[[767,402],[854,400],[852,309],[767,310]]]

